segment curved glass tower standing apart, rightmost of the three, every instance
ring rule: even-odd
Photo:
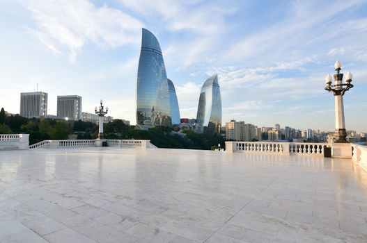
[[[201,126],[207,126],[208,133],[219,133],[221,129],[221,90],[218,75],[208,78],[201,87],[196,120]]]

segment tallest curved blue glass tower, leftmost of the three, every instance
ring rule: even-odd
[[[136,87],[136,124],[171,126],[169,85],[157,38],[143,28]]]

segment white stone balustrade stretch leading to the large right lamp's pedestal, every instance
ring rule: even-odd
[[[307,142],[226,142],[229,153],[275,153],[283,155],[324,156],[326,143]]]

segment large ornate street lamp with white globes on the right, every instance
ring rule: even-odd
[[[343,74],[340,73],[341,62],[339,62],[339,60],[336,60],[334,67],[336,71],[336,74],[334,74],[334,84],[332,84],[331,82],[333,77],[330,74],[327,74],[325,78],[325,90],[327,90],[328,92],[332,92],[335,98],[335,142],[345,143],[348,141],[344,121],[343,95],[346,91],[350,90],[353,87],[351,83],[353,75],[351,72],[347,72],[347,74],[345,74],[345,83],[343,83]]]

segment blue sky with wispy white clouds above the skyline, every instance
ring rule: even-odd
[[[347,130],[367,132],[367,1],[0,0],[0,107],[20,92],[100,99],[135,124],[141,28],[155,34],[181,118],[196,118],[205,80],[218,74],[222,122],[334,131],[325,76],[352,72]]]

